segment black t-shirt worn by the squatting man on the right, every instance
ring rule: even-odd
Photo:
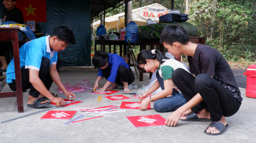
[[[232,92],[239,102],[242,102],[240,90],[235,81],[235,76],[228,62],[214,48],[198,44],[194,56],[187,56],[190,64],[190,72],[194,75],[208,74],[220,82],[225,88]]]

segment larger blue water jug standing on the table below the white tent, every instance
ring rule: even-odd
[[[125,34],[125,42],[128,42],[128,39],[131,43],[136,43],[138,40],[138,25],[135,23],[135,21],[131,21],[126,26],[126,34]]]

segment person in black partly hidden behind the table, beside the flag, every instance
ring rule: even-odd
[[[20,24],[24,24],[22,12],[15,6],[16,0],[3,0],[5,8],[2,11],[2,22],[13,21]],[[9,48],[12,50],[10,43],[0,43],[0,62],[3,66],[0,68],[0,72],[6,72],[7,61],[5,59],[5,50]]]

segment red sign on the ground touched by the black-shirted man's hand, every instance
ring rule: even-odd
[[[145,116],[126,116],[128,120],[137,127],[152,127],[152,126],[166,126],[164,122],[166,119],[160,115],[145,115]]]

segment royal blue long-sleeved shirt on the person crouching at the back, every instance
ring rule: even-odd
[[[111,68],[110,76],[108,77],[107,81],[115,82],[115,78],[117,78],[117,70],[119,66],[125,66],[127,69],[129,69],[129,65],[126,63],[126,61],[123,59],[123,57],[120,57],[117,54],[108,54],[108,68]],[[102,70],[99,69],[99,74],[97,76],[102,75]]]

